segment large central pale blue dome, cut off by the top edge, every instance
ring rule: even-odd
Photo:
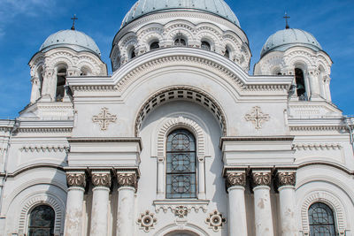
[[[139,0],[123,19],[122,27],[144,15],[158,11],[196,10],[209,12],[233,22],[240,27],[234,11],[224,0]]]

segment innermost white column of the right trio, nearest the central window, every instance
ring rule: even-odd
[[[228,235],[247,236],[246,204],[244,187],[245,171],[227,171]]]

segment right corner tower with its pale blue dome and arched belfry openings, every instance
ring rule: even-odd
[[[267,39],[254,74],[294,75],[292,100],[331,102],[331,66],[331,58],[312,34],[287,27]]]

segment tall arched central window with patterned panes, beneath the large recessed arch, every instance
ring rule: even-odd
[[[196,139],[185,129],[167,137],[166,198],[196,198]]]

